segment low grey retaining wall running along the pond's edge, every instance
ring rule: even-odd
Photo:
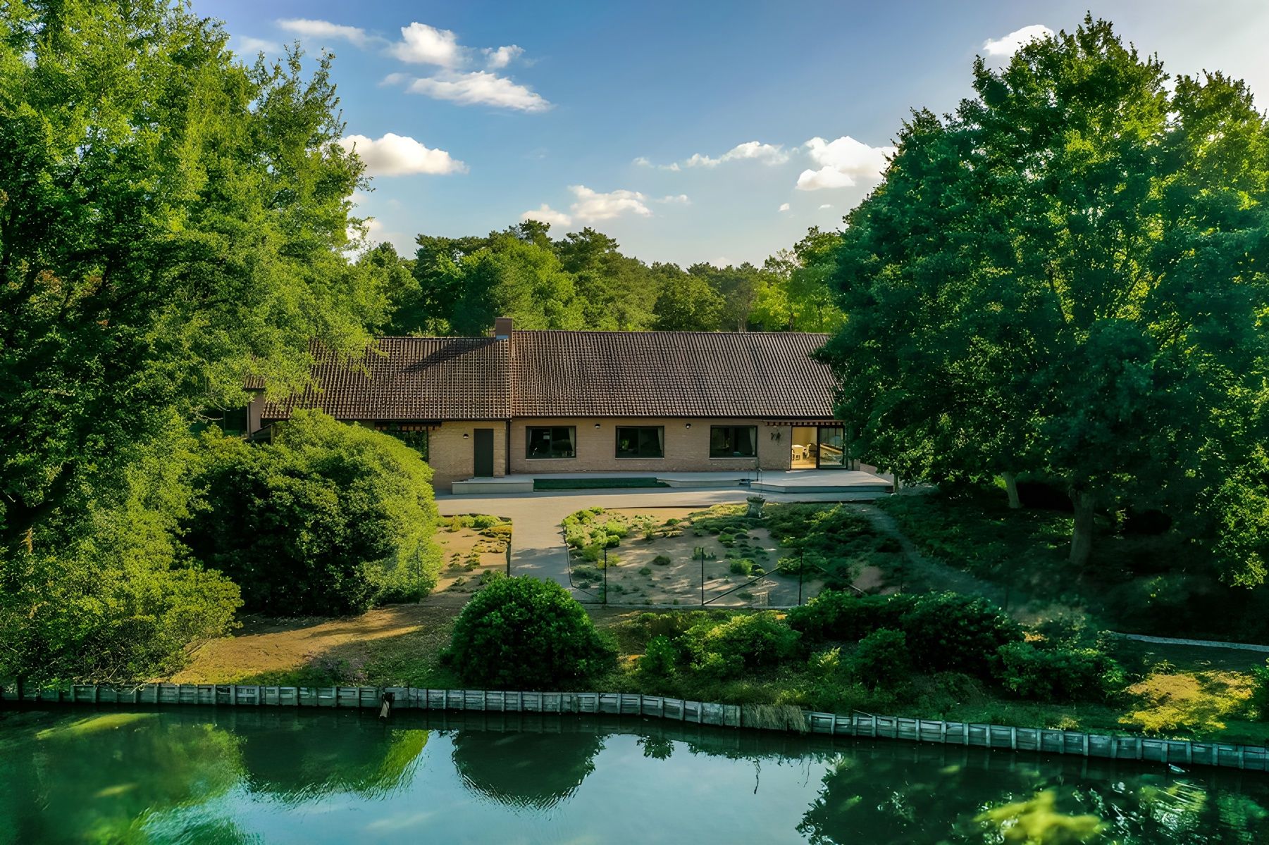
[[[642,716],[678,722],[797,731],[805,733],[907,740],[1009,751],[1074,754],[1109,760],[1141,760],[1269,771],[1269,747],[1225,742],[1155,740],[1048,728],[900,718],[854,713],[813,713],[794,708],[712,704],[637,693],[522,693],[503,690],[418,689],[414,686],[256,686],[241,684],[76,685],[67,689],[4,688],[4,702],[23,704],[199,704],[216,707],[379,708],[385,693],[393,709],[501,713],[595,713]]]

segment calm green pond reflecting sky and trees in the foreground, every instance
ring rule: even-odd
[[[0,842],[416,841],[1250,844],[1269,776],[633,718],[0,713]]]

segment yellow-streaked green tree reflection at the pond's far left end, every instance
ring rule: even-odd
[[[147,841],[166,811],[212,801],[241,775],[237,737],[195,719],[30,716],[30,732],[0,747],[0,817],[16,823],[4,831],[15,842]],[[250,841],[227,821],[214,826],[198,841]]]

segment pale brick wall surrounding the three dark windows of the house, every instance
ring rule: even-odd
[[[595,428],[595,424],[599,428]],[[688,428],[690,424],[692,428]],[[447,424],[448,425],[448,424]],[[528,434],[525,429],[538,425],[571,425],[576,428],[576,458],[525,457]],[[618,458],[618,425],[660,425],[665,428],[664,458]],[[788,469],[792,462],[789,448],[792,429],[787,425],[766,425],[763,420],[731,419],[577,419],[541,417],[511,421],[511,472],[726,472],[754,468],[753,458],[711,458],[709,428],[712,425],[751,425],[758,429],[758,457],[763,469]],[[772,439],[778,435],[779,439]]]

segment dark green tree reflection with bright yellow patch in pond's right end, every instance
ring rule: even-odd
[[[997,754],[940,766],[929,756],[841,757],[797,831],[813,845],[1269,841],[1269,785],[1244,780],[1239,794],[1227,778],[1218,783],[1221,773],[1208,773],[1207,784],[1112,768],[1081,778],[1074,759],[1009,765],[1015,760]]]

